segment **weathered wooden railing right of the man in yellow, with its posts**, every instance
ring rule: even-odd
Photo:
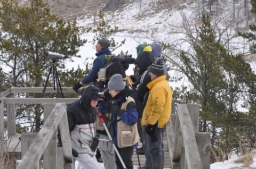
[[[199,105],[179,104],[166,134],[172,169],[210,169],[210,133],[199,132]]]

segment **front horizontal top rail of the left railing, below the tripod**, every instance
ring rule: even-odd
[[[72,103],[78,98],[2,98],[4,104]]]

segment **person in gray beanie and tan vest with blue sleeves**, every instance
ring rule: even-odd
[[[138,133],[138,112],[134,99],[129,96],[129,90],[125,88],[121,74],[114,74],[108,81],[109,112],[111,124],[113,124],[113,140],[127,169],[133,168],[133,147],[138,146],[140,141]],[[121,160],[116,156],[117,168],[123,168]]]

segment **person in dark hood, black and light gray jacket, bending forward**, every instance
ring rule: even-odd
[[[103,98],[98,87],[89,86],[84,89],[79,100],[67,107],[71,147],[77,151],[78,156],[74,155],[74,158],[83,168],[103,168],[95,157],[97,145],[94,142],[97,140],[94,132],[96,119],[94,108],[98,102],[103,101]]]

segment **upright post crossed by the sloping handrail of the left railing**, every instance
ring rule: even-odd
[[[52,112],[55,103],[44,104],[44,122],[47,120],[47,117]],[[55,169],[57,166],[57,132],[55,131],[49,145],[44,151],[44,168]]]

